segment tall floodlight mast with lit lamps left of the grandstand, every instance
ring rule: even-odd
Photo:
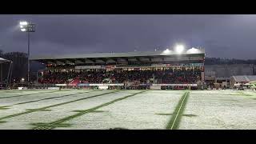
[[[27,83],[30,82],[30,32],[35,32],[32,22],[19,22],[22,32],[27,32]]]

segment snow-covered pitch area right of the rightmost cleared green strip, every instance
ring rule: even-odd
[[[245,95],[243,95],[245,94]],[[256,129],[254,91],[191,91],[179,129]]]

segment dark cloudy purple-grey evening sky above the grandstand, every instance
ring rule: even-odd
[[[36,23],[31,54],[204,47],[207,57],[256,58],[256,15],[0,15],[0,50],[26,52],[18,23]]]

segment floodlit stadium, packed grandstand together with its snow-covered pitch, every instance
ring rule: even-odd
[[[0,129],[255,129],[255,91],[206,90],[205,55],[177,46],[30,56],[46,68],[0,90]]]

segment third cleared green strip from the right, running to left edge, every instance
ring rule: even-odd
[[[41,107],[41,108],[38,108],[38,109],[31,109],[31,110],[28,110],[28,111],[25,111],[25,112],[22,112],[22,113],[18,113],[18,114],[10,114],[10,115],[6,115],[6,116],[0,118],[0,120],[6,119],[6,118],[17,117],[17,116],[20,116],[20,115],[23,115],[23,114],[30,114],[30,113],[37,112],[37,111],[40,111],[40,110],[45,110],[45,109],[50,108],[50,107],[62,106],[62,105],[72,103],[72,102],[78,102],[78,101],[82,101],[82,100],[89,99],[89,98],[95,98],[95,97],[99,97],[99,96],[102,96],[102,95],[105,95],[105,94],[115,93],[117,91],[111,91],[111,92],[104,93],[104,94],[96,94],[96,95],[86,97],[86,98],[78,98],[76,100],[72,100],[72,101],[68,101],[68,102],[62,102],[62,103],[58,103],[58,104],[54,104],[54,105],[50,105],[50,106],[44,106],[44,107]]]

